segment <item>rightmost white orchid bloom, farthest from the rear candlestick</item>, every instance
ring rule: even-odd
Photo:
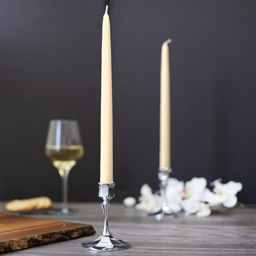
[[[210,204],[222,204],[224,207],[234,207],[237,203],[236,194],[242,190],[243,185],[241,182],[235,182],[233,180],[229,181],[226,184],[221,183],[221,180],[214,180],[211,183],[213,188],[212,194],[207,192],[205,201]],[[215,195],[214,195],[215,194]]]

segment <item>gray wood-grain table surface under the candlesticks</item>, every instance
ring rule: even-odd
[[[256,255],[256,208],[253,206],[236,207],[207,218],[190,215],[157,221],[154,217],[147,216],[145,212],[126,208],[114,201],[112,203],[109,217],[110,231],[116,239],[131,243],[131,248],[128,250],[116,252],[84,250],[81,243],[96,239],[102,232],[102,209],[100,203],[70,203],[70,207],[75,210],[70,215],[26,215],[92,224],[96,235],[8,252],[4,255]],[[0,211],[5,211],[4,203],[0,203]]]

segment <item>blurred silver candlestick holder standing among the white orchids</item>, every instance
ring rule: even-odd
[[[149,215],[175,215],[175,213],[173,213],[169,207],[167,195],[166,195],[167,180],[170,177],[171,172],[172,172],[171,168],[158,168],[158,179],[160,180],[160,183],[159,183],[160,194],[163,196],[163,202],[160,210],[149,213]]]

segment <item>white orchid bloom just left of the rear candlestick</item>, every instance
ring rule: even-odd
[[[140,203],[135,205],[136,209],[152,212],[161,208],[160,195],[153,194],[152,189],[148,184],[144,184],[141,187],[140,194],[141,196],[138,200]]]

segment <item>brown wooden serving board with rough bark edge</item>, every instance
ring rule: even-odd
[[[0,253],[90,236],[92,225],[0,212]]]

